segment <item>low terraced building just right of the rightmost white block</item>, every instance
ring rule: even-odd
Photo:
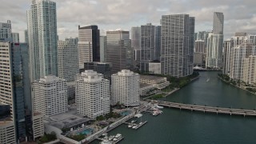
[[[166,88],[170,85],[170,82],[167,81],[165,77],[157,77],[151,75],[141,75],[141,83],[146,83],[156,87],[158,90]]]

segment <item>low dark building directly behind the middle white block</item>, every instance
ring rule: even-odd
[[[112,65],[107,62],[85,62],[85,70],[94,70],[99,74],[103,74],[103,78],[111,81]]]

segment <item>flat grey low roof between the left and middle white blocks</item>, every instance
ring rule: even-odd
[[[90,121],[90,118],[84,118],[84,115],[78,114],[75,106],[71,106],[66,113],[56,114],[44,120],[48,125],[57,127],[60,130],[63,127],[70,128],[88,121]]]

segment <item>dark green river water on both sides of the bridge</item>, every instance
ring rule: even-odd
[[[202,106],[255,109],[256,95],[222,82],[217,78],[217,74],[218,72],[213,71],[200,72],[198,80],[161,100]],[[163,114],[156,117],[144,114],[142,120],[148,123],[138,130],[122,125],[110,134],[122,134],[125,138],[121,144],[256,143],[254,117],[165,108]]]

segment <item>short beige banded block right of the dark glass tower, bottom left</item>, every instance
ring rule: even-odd
[[[44,126],[43,126],[43,114],[35,112],[33,114],[33,138],[34,141],[36,138],[40,138],[44,135]]]

